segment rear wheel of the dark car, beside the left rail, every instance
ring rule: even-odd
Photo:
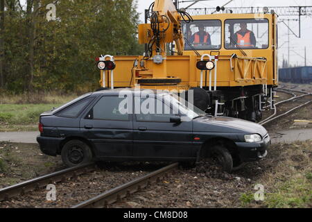
[[[62,161],[67,167],[76,167],[93,160],[91,148],[78,139],[67,142],[62,148],[61,155]]]

